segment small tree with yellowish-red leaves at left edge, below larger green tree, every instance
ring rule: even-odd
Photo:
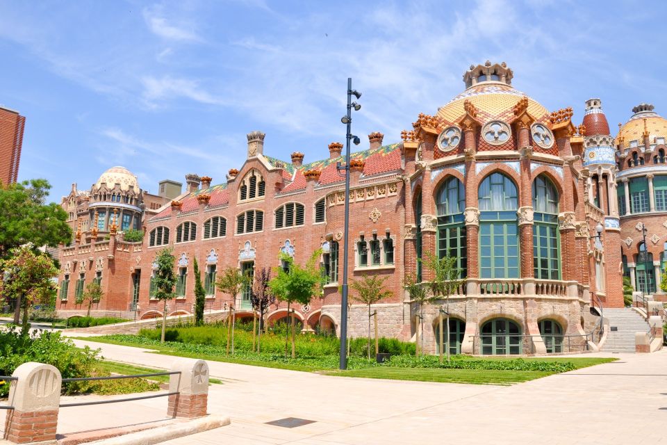
[[[30,243],[12,248],[8,259],[0,259],[0,296],[16,300],[14,323],[19,323],[23,309],[22,334],[28,334],[28,309],[35,302],[47,301],[53,295],[58,268],[49,255],[36,251]]]

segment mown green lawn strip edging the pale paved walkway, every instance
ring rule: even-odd
[[[558,371],[518,371],[507,369],[439,369],[425,367],[396,367],[378,365],[368,362],[367,359],[359,357],[349,358],[349,368],[346,371],[338,370],[338,357],[297,357],[286,359],[282,355],[258,355],[247,351],[239,351],[235,356],[226,355],[224,348],[214,346],[195,346],[186,343],[167,342],[165,344],[148,341],[141,337],[115,336],[115,337],[74,337],[85,341],[97,341],[122,346],[135,346],[155,350],[158,354],[174,355],[177,357],[192,357],[208,359],[217,362],[228,362],[245,364],[250,366],[263,366],[267,368],[289,369],[293,371],[318,372],[324,375],[337,375],[343,377],[357,378],[380,378],[393,380],[415,380],[422,382],[450,382],[470,383],[476,385],[511,385],[513,383],[527,382],[547,375],[558,373]],[[457,356],[456,360],[462,362],[481,362],[483,360],[502,361],[512,360],[516,357],[478,357]],[[596,357],[524,357],[526,362],[562,363],[571,365],[570,369],[580,369],[587,366],[595,366],[608,362],[614,362],[615,358]],[[122,365],[122,364],[118,364]],[[131,365],[123,365],[131,366]],[[128,373],[156,372],[147,368],[134,367],[135,370]],[[118,372],[118,371],[110,371]]]

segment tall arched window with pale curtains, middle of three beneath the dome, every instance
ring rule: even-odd
[[[479,185],[479,274],[481,278],[519,277],[518,195],[500,172]]]

